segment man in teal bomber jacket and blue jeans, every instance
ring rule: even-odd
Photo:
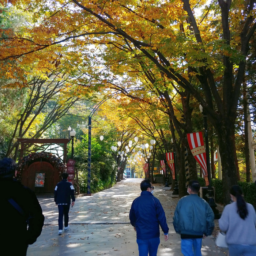
[[[183,196],[175,209],[173,226],[181,237],[181,252],[184,256],[202,256],[202,238],[210,236],[214,229],[214,213],[197,195],[200,184],[192,180],[188,184],[189,196]]]

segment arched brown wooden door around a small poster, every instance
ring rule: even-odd
[[[35,187],[36,173],[44,174],[44,187]],[[45,161],[31,163],[27,169],[27,187],[36,193],[53,193],[54,192],[54,167]]]

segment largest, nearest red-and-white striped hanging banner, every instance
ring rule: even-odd
[[[204,140],[202,132],[193,132],[187,134],[189,148],[196,161],[202,167],[202,172],[206,186],[209,185],[207,165],[206,165],[206,153],[204,148]]]

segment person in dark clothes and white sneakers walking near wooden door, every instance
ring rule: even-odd
[[[68,173],[62,173],[62,181],[60,181],[54,190],[54,201],[59,208],[59,235],[63,230],[63,215],[64,215],[64,230],[69,229],[68,212],[70,208],[70,197],[72,198],[72,206],[75,204],[74,186],[67,180]]]

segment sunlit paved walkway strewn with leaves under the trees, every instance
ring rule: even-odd
[[[76,199],[69,212],[70,229],[58,235],[58,208],[52,198],[39,198],[45,215],[45,226],[37,241],[29,246],[27,256],[55,255],[139,255],[136,232],[129,223],[132,201],[140,195],[142,179],[127,179],[114,187]],[[180,236],[175,233],[172,217],[177,199],[170,197],[162,184],[154,184],[154,196],[165,210],[169,226],[169,240],[160,235],[158,256],[182,256]],[[168,194],[168,195],[167,195]],[[203,240],[203,256],[224,256],[216,251],[212,236]]]

